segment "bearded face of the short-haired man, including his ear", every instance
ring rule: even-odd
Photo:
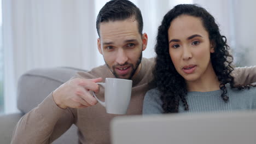
[[[98,50],[115,77],[131,79],[141,69],[142,51],[148,36],[138,32],[138,23],[130,18],[100,23]]]

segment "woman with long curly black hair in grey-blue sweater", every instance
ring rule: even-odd
[[[180,4],[168,11],[155,46],[156,88],[147,92],[143,113],[256,109],[256,88],[234,85],[228,48],[205,9]]]

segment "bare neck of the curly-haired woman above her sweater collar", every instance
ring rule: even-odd
[[[212,65],[195,81],[186,81],[189,92],[210,92],[219,90],[220,82]]]

